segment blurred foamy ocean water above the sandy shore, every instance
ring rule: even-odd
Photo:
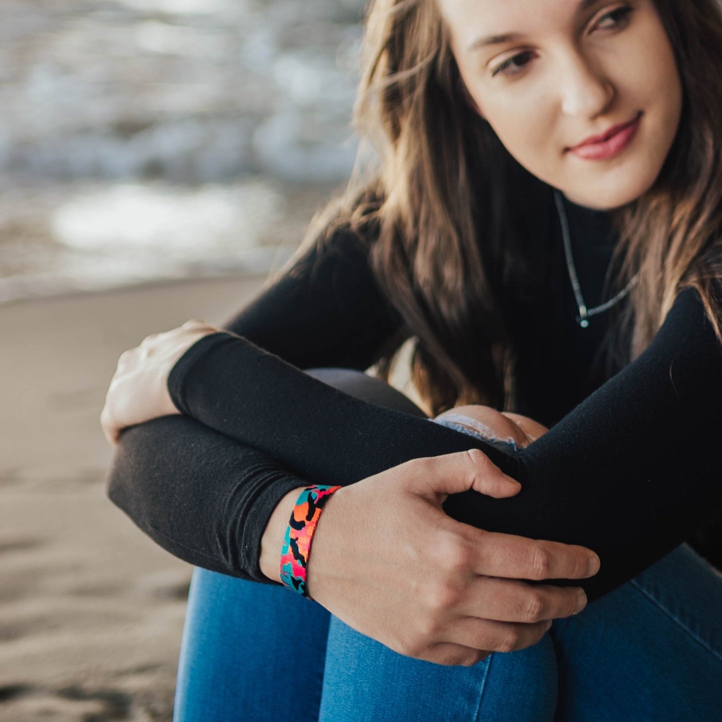
[[[264,272],[351,171],[362,0],[0,0],[0,302]]]

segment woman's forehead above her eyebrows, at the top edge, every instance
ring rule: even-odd
[[[603,0],[436,0],[451,35],[463,48],[487,35],[532,35],[567,27]]]

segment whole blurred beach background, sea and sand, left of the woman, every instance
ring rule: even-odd
[[[118,356],[344,185],[363,0],[0,0],[0,719],[166,721],[191,567],[105,497]]]

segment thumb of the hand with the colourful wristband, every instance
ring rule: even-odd
[[[511,497],[521,484],[494,464],[480,449],[414,459],[420,468],[412,474],[414,491],[443,503],[449,494],[474,490],[495,499]]]

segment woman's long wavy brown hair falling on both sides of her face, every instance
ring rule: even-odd
[[[619,321],[622,362],[643,352],[684,287],[699,290],[722,341],[722,9],[718,0],[653,2],[684,105],[653,187],[611,212],[621,260],[614,284],[640,274]],[[300,247],[341,227],[367,239],[375,277],[413,339],[412,378],[432,414],[471,403],[513,410],[514,349],[500,299],[531,288],[524,218],[533,219],[542,186],[465,94],[433,0],[370,0],[353,118],[357,167]],[[381,378],[402,340],[380,358]]]

